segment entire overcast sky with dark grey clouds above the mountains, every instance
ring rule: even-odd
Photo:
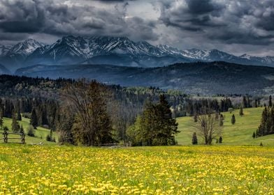
[[[274,1],[0,0],[0,44],[66,35],[274,56]]]

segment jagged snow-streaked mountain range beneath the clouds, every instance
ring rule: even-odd
[[[274,56],[235,56],[217,49],[181,50],[168,45],[154,46],[126,37],[65,36],[52,45],[33,39],[14,46],[0,45],[0,64],[15,71],[31,65],[111,64],[134,67],[161,67],[173,63],[226,61],[274,67]]]

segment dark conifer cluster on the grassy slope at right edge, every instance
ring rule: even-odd
[[[252,137],[262,137],[274,134],[274,107],[265,107],[261,114],[261,124]]]

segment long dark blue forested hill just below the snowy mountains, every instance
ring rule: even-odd
[[[222,61],[177,63],[160,68],[115,65],[34,65],[17,70],[29,77],[96,79],[122,86],[173,88],[190,94],[273,93],[274,68]]]

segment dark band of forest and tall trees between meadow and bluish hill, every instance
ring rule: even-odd
[[[1,114],[13,118],[13,131],[21,128],[16,124],[24,116],[30,119],[28,132],[44,126],[50,129],[49,141],[53,141],[52,132],[58,132],[59,141],[75,145],[115,141],[131,141],[136,146],[171,145],[178,133],[175,117],[195,118],[208,109],[218,115],[217,123],[222,126],[221,112],[236,107],[227,97],[193,98],[180,91],[106,86],[88,80],[3,75],[0,85]],[[259,99],[243,97],[243,107],[255,102],[259,106]],[[133,139],[135,130],[138,139]],[[152,137],[145,139],[147,134]]]

